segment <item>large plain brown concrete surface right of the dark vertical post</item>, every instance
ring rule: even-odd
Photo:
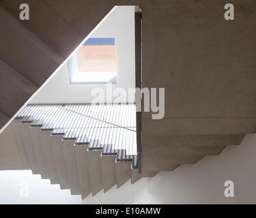
[[[237,134],[233,127],[242,127],[239,134],[254,133],[256,1],[228,1],[235,20],[225,20],[223,0],[144,2],[142,84],[165,88],[165,118],[142,114],[142,168],[170,167],[179,154],[169,153],[169,146],[180,146],[170,143],[172,136]],[[164,149],[156,154],[157,146]]]

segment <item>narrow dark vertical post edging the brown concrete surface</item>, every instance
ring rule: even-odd
[[[142,14],[141,12],[135,12],[135,85],[136,88],[141,89],[141,20]],[[136,95],[136,102],[139,101],[141,104],[141,95]],[[136,112],[136,127],[137,127],[137,167],[139,173],[141,173],[141,111]]]

